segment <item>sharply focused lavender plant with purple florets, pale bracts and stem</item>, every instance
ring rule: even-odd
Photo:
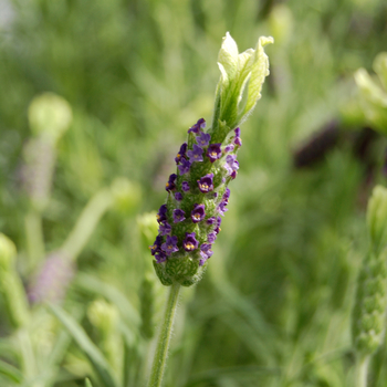
[[[255,49],[239,53],[229,33],[218,56],[220,80],[211,126],[200,118],[188,129],[188,139],[175,158],[177,170],[166,182],[166,203],[157,213],[158,236],[150,245],[155,271],[171,286],[148,386],[160,386],[180,285],[191,286],[202,276],[220,232],[221,216],[230,198],[228,185],[237,177],[237,153],[242,145],[239,125],[261,97],[269,75],[261,36]]]

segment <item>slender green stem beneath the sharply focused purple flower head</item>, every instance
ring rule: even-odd
[[[177,299],[180,291],[180,284],[174,283],[164,315],[161,331],[158,337],[154,364],[150,370],[148,387],[160,387],[163,381],[164,369],[167,363],[168,347],[174,326],[175,314],[177,310]]]

